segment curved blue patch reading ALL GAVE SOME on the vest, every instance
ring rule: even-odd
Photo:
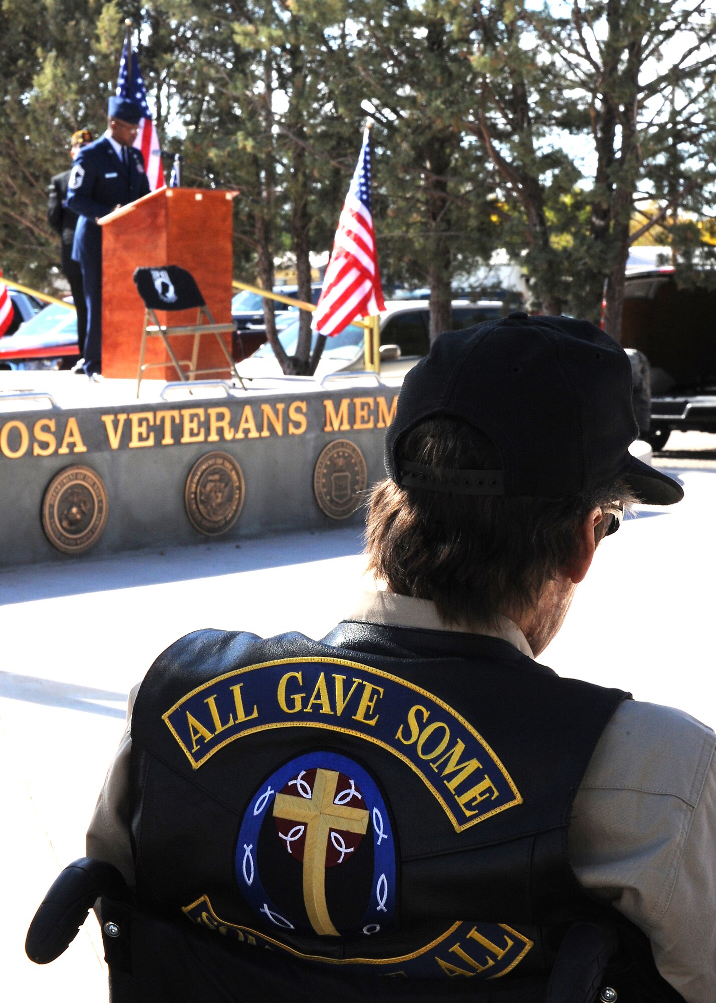
[[[270,728],[318,727],[402,759],[456,831],[521,804],[499,758],[446,703],[398,676],[329,658],[282,659],[205,683],[163,715],[199,769],[229,742]]]

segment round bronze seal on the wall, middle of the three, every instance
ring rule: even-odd
[[[195,530],[218,537],[231,530],[244,505],[244,474],[226,452],[207,452],[187,477],[185,505]]]

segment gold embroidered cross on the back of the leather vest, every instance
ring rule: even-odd
[[[311,797],[277,794],[274,817],[303,822],[306,842],[303,850],[303,901],[311,926],[317,934],[340,937],[331,923],[326,905],[326,851],[331,828],[363,834],[368,828],[368,812],[336,804],[338,773],[317,769]]]

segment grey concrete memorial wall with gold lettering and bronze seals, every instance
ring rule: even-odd
[[[398,388],[0,414],[0,567],[363,519]]]

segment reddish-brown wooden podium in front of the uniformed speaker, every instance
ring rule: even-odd
[[[158,189],[99,221],[102,227],[102,375],[135,379],[144,304],[132,280],[135,268],[178,265],[191,272],[219,323],[232,320],[234,274],[232,201],[238,193]],[[196,310],[158,312],[160,324],[195,324]],[[231,335],[225,336],[231,354]],[[191,358],[192,338],[169,338],[178,359]],[[176,380],[160,338],[150,338],[145,362],[167,362],[149,378]],[[229,375],[215,335],[201,339],[200,369]],[[208,374],[207,378],[211,378]]]

